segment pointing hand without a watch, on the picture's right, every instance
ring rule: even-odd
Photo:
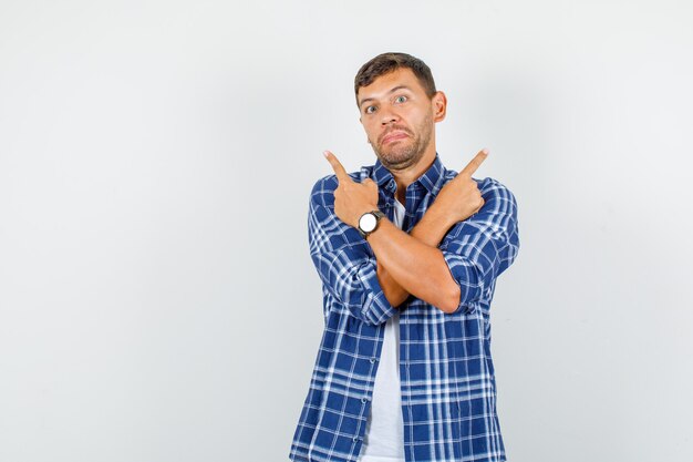
[[[463,222],[484,206],[484,199],[472,174],[488,156],[488,150],[482,150],[474,158],[438,192],[430,208],[443,214],[451,226]]]

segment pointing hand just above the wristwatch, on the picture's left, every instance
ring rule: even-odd
[[[324,156],[332,165],[339,182],[334,189],[334,213],[342,222],[355,228],[361,215],[377,209],[377,185],[371,178],[361,183],[354,182],[334,154],[325,151]]]

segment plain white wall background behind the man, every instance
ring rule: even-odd
[[[0,460],[288,460],[322,335],[308,198],[423,59],[437,150],[518,201],[509,461],[691,461],[686,1],[0,1]]]

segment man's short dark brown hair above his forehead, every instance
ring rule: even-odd
[[[418,58],[414,58],[406,53],[381,53],[373,58],[359,69],[356,76],[354,78],[354,94],[356,96],[356,105],[359,104],[359,89],[361,86],[368,86],[375,79],[381,75],[394,72],[397,69],[406,68],[411,69],[418,79],[418,82],[424,88],[426,95],[431,99],[435,94],[435,81],[431,69],[425,62]]]

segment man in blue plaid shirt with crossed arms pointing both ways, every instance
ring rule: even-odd
[[[310,255],[325,328],[293,461],[504,461],[490,357],[496,278],[519,249],[517,203],[496,179],[443,166],[446,97],[428,66],[383,53],[358,72],[377,157],[310,196]]]

